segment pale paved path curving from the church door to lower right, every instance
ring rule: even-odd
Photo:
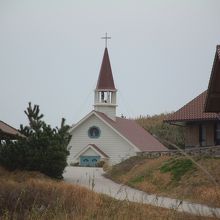
[[[116,199],[172,208],[180,212],[188,212],[195,215],[216,216],[220,218],[220,208],[211,208],[168,197],[149,195],[140,190],[117,184],[103,177],[103,174],[104,171],[102,168],[67,167],[63,176],[66,182],[85,186],[95,192],[104,193]]]

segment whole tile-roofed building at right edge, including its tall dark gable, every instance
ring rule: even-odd
[[[216,46],[208,90],[165,122],[185,127],[186,147],[220,145],[220,45]]]

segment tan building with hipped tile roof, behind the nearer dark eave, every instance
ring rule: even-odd
[[[186,147],[220,145],[220,120],[218,114],[204,112],[206,95],[201,93],[165,120],[185,127]]]

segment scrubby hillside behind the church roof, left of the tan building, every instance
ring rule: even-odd
[[[167,144],[166,141],[184,147],[183,128],[163,122],[169,115],[170,113],[162,113],[153,116],[140,116],[136,118],[136,121],[145,130],[155,135],[166,147],[173,147]]]

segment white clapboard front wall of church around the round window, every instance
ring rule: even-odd
[[[101,130],[101,135],[97,139],[88,136],[88,129],[92,126],[97,126]],[[72,138],[69,143],[71,149],[68,157],[69,164],[78,162],[75,156],[88,144],[95,144],[100,150],[106,153],[109,156],[108,161],[110,165],[117,164],[136,155],[133,146],[95,115],[91,115],[82,124],[76,127],[71,135]]]

